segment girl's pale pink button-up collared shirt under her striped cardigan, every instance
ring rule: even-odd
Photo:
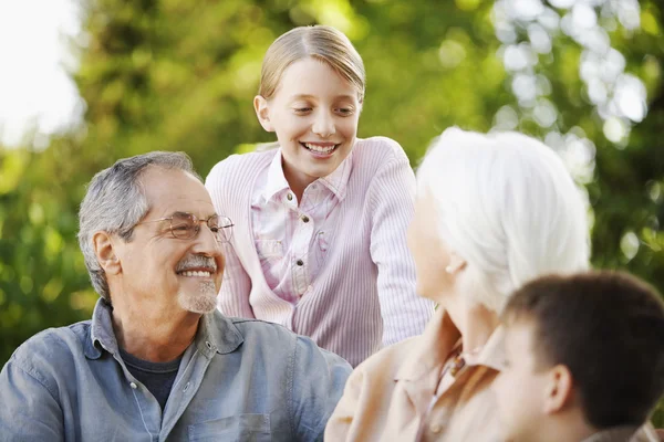
[[[283,175],[281,151],[268,172],[258,177],[251,203],[256,250],[268,286],[282,299],[297,303],[311,291],[334,234],[352,167],[351,152],[334,172],[304,189],[300,203]]]

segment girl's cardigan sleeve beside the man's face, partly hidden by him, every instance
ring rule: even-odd
[[[227,169],[235,169],[232,164],[229,165],[229,160],[232,160],[232,157],[217,164],[205,180],[205,187],[210,193],[215,211],[224,214],[228,212],[228,201],[225,198],[225,191],[228,192],[227,189],[231,187],[231,183],[226,181],[232,180],[234,177],[231,170]],[[242,222],[242,220],[235,221]],[[253,309],[249,304],[251,278],[242,266],[234,244],[224,243],[222,249],[225,260],[224,280],[217,298],[217,306],[226,316],[253,318]]]

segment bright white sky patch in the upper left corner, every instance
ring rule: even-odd
[[[72,0],[0,1],[0,144],[45,148],[80,124],[84,103],[71,73],[84,45]]]

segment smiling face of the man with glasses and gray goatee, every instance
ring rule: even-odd
[[[207,190],[181,170],[158,167],[149,167],[141,182],[149,211],[134,229],[132,241],[116,248],[122,295],[149,301],[160,309],[214,311],[224,275],[224,256],[215,235],[203,222],[195,238],[178,239],[169,221],[155,221],[174,213],[207,220],[215,214]]]

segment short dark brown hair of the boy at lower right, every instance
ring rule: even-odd
[[[626,273],[536,280],[513,294],[502,319],[531,322],[538,368],[569,368],[598,429],[643,424],[664,393],[664,303]]]

